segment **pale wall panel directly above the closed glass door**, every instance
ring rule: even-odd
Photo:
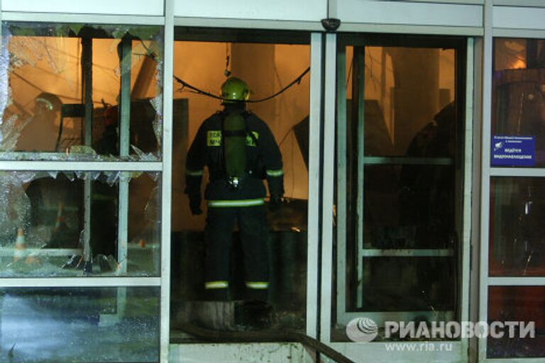
[[[336,8],[336,17],[345,23],[483,26],[483,7],[480,5],[337,0]]]

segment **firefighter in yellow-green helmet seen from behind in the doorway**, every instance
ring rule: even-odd
[[[209,172],[204,193],[208,207],[204,288],[216,301],[229,298],[231,232],[236,224],[243,245],[247,299],[266,301],[268,226],[263,179],[268,181],[270,208],[279,206],[284,194],[282,155],[268,125],[246,111],[248,96],[243,80],[227,79],[221,86],[223,111],[202,123],[187,154],[185,194],[193,215],[202,213],[205,166]]]

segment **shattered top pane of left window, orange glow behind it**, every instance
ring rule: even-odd
[[[162,32],[4,22],[0,157],[160,160]]]

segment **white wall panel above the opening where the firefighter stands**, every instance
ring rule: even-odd
[[[178,0],[175,16],[199,18],[320,21],[326,18],[326,0]]]

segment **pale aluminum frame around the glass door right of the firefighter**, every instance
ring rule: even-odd
[[[337,65],[337,45],[338,38],[334,33],[325,35],[325,78],[324,100],[337,99],[336,78],[338,67],[344,67],[344,64]],[[463,211],[462,211],[462,266],[461,266],[461,320],[469,320],[469,289],[470,289],[470,234],[472,217],[472,172],[473,172],[473,89],[474,89],[474,48],[473,38],[468,38],[466,48],[466,89],[464,96],[466,98],[465,108],[465,130],[464,130],[464,155],[463,155]],[[340,99],[341,97],[339,97]],[[321,306],[320,306],[320,340],[331,345],[336,350],[343,352],[356,362],[365,361],[365,357],[372,356],[375,362],[395,362],[396,357],[403,362],[422,362],[430,359],[430,352],[412,352],[407,357],[407,352],[392,352],[387,350],[391,342],[333,342],[331,340],[331,325],[333,323],[333,299],[336,298],[337,291],[333,290],[334,266],[334,174],[336,170],[336,134],[335,126],[337,121],[336,106],[341,101],[324,101],[324,172],[321,191],[322,211],[321,211]],[[430,342],[417,342],[412,344],[427,344]],[[461,339],[452,344],[450,352],[441,352],[441,362],[461,362],[468,359],[469,340]],[[438,356],[439,357],[439,356]]]

